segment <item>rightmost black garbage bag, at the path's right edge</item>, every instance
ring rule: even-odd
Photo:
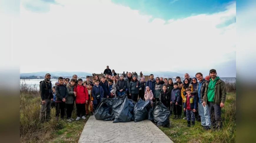
[[[154,122],[156,123],[157,127],[158,126],[169,126],[170,125],[170,117],[171,113],[169,109],[164,106],[162,102],[157,102],[154,111],[153,111],[153,118]]]

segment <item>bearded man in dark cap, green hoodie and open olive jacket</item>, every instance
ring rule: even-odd
[[[210,80],[205,84],[203,106],[208,106],[211,117],[211,126],[217,131],[222,128],[221,108],[226,100],[225,82],[217,76],[215,69],[210,70]],[[214,118],[213,118],[214,117]]]

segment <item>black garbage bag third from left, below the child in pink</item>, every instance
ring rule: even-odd
[[[139,99],[136,102],[133,109],[134,122],[139,122],[148,118],[148,106],[151,106],[150,103],[150,99],[146,101]]]

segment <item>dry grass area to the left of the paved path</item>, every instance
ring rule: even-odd
[[[51,109],[51,120],[40,123],[40,95],[36,86],[20,85],[20,142],[78,142],[86,120],[67,123],[56,120]],[[74,108],[72,117],[76,115]]]

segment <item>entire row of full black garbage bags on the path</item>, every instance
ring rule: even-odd
[[[97,120],[114,120],[119,122],[139,122],[150,120],[157,126],[168,126],[170,124],[170,111],[161,102],[151,106],[150,100],[139,99],[136,103],[128,99],[127,94],[109,99],[103,98],[94,114]]]

